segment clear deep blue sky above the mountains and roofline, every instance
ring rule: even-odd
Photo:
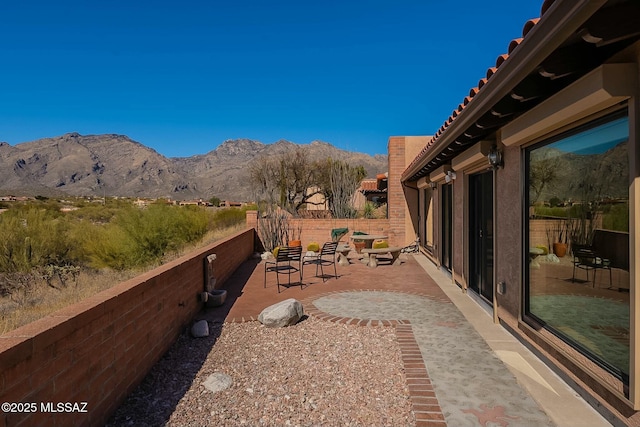
[[[431,135],[542,1],[0,2],[0,141],[116,133],[386,154]]]

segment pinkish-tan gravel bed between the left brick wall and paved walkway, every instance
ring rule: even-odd
[[[183,334],[108,425],[415,425],[392,327],[309,317],[288,328],[209,329],[206,338]],[[213,374],[231,386],[208,390]]]

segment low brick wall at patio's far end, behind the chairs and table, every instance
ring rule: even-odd
[[[322,245],[324,242],[331,241],[331,230],[334,228],[348,228],[349,233],[342,238],[342,241],[349,242],[349,236],[354,231],[363,231],[368,234],[379,234],[389,236],[389,220],[388,219],[291,219],[291,228],[293,230],[301,229],[300,240],[302,246],[306,247],[309,242],[318,242]],[[258,229],[259,221],[256,211],[247,211],[247,227]],[[391,239],[392,236],[389,236]],[[392,239],[391,239],[392,240]],[[395,245],[390,241],[392,245]]]

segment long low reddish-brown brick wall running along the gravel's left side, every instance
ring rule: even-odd
[[[200,310],[204,259],[224,288],[254,243],[247,229],[0,336],[0,403],[22,404],[0,426],[103,425]]]

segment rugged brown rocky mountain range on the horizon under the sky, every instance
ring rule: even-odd
[[[387,171],[387,156],[338,149],[321,141],[263,144],[227,140],[191,157],[165,157],[127,136],[68,133],[12,146],[0,142],[0,195],[167,197],[173,200],[219,197],[249,201],[247,165],[304,147],[313,160],[331,157],[362,165],[368,176]]]

